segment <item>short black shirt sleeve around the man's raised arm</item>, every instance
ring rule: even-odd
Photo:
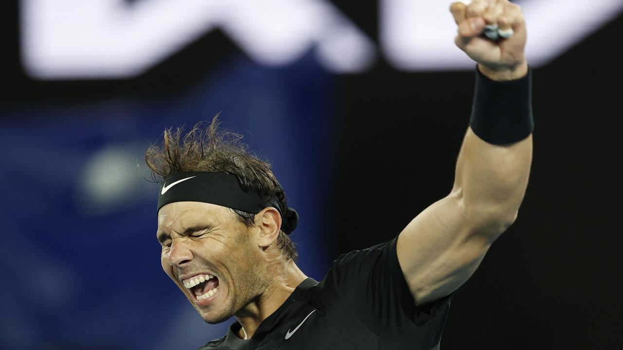
[[[326,280],[351,313],[386,340],[402,339],[404,348],[415,343],[439,344],[454,293],[416,307],[398,262],[397,237],[365,250],[341,255]],[[393,340],[392,343],[395,343]]]

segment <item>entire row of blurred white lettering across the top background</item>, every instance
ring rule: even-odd
[[[526,54],[534,67],[558,57],[623,9],[622,0],[523,0]],[[379,42],[402,70],[472,69],[454,45],[449,2],[380,0]],[[371,39],[326,0],[22,0],[22,59],[33,77],[126,78],[220,29],[249,57],[285,65],[314,50],[326,69],[369,69]]]

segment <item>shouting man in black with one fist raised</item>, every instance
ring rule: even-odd
[[[298,215],[270,164],[216,118],[164,133],[146,154],[161,177],[164,271],[207,323],[231,316],[201,349],[438,349],[452,295],[516,219],[530,173],[533,121],[526,28],[507,0],[456,2],[455,44],[477,84],[450,194],[390,242],[335,260],[325,279],[297,267]]]

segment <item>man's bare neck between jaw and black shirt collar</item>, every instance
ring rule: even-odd
[[[260,323],[272,315],[307,278],[292,260],[286,262],[278,260],[269,265],[272,278],[264,293],[235,314],[235,318],[242,326],[237,334],[241,339],[251,338]]]

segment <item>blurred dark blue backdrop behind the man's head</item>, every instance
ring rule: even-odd
[[[143,161],[164,128],[216,113],[274,164],[301,216],[299,265],[323,278],[332,80],[308,57],[267,69],[237,55],[172,94],[2,108],[3,346],[188,349],[221,336],[229,323],[203,323],[161,270],[159,187]]]

